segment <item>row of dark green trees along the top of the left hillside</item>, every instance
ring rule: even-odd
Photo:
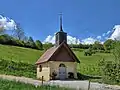
[[[16,39],[12,36],[9,36],[8,34],[0,35],[0,44],[20,46],[20,47],[33,48],[33,49],[42,49],[43,47],[42,43],[39,40],[37,40],[37,43],[35,44],[32,37],[29,37],[28,41],[23,41]]]

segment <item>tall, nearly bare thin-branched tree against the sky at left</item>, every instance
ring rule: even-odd
[[[16,28],[13,30],[13,36],[18,40],[23,40],[25,37],[25,33],[19,23],[16,24]]]

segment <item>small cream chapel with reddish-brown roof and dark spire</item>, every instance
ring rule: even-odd
[[[37,78],[49,80],[77,79],[76,55],[67,44],[67,33],[63,31],[62,15],[60,15],[60,30],[55,34],[55,45],[49,48],[36,62]]]

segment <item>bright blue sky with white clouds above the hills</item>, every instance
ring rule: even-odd
[[[34,40],[54,43],[61,12],[69,43],[103,42],[120,35],[120,0],[0,0],[0,3],[4,28],[11,30],[18,22]]]

